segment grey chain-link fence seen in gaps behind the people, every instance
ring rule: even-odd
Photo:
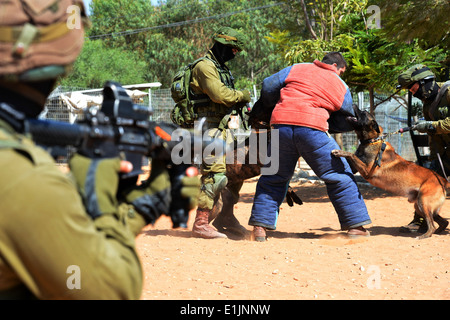
[[[150,106],[153,109],[152,121],[171,122],[170,112],[174,106],[170,89],[148,89],[148,91],[133,98],[135,103]],[[256,90],[254,92],[257,92]],[[150,94],[149,94],[150,93]],[[81,100],[84,97],[84,100]],[[86,99],[86,97],[88,97]],[[84,108],[101,103],[102,89],[85,88],[56,88],[45,105],[40,118],[73,123],[82,117]],[[380,97],[384,99],[385,97]],[[369,109],[369,95],[359,93],[354,95],[354,101],[362,110]],[[400,105],[396,100],[389,100],[376,108],[375,117],[378,124],[383,127],[384,133],[395,132],[407,126],[406,106]],[[409,161],[416,161],[414,147],[409,133],[390,136],[387,141],[392,144],[396,152]],[[342,145],[346,151],[354,152],[359,141],[354,132],[342,134]],[[62,161],[65,161],[64,159]]]

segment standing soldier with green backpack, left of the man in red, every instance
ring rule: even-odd
[[[225,62],[243,49],[244,37],[232,28],[222,27],[214,34],[213,40],[214,45],[206,59],[198,62],[192,70],[190,88],[195,94],[192,99],[205,100],[203,105],[197,106],[197,113],[199,117],[206,117],[210,136],[231,143],[230,116],[240,113],[242,106],[250,102],[250,93],[234,88],[233,77]],[[225,157],[209,160],[206,159],[202,165],[202,188],[192,232],[201,238],[226,238],[225,234],[209,225],[215,199],[227,185]],[[230,190],[236,202],[240,187],[242,184]]]

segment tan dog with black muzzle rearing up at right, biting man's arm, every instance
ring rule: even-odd
[[[354,173],[359,172],[370,184],[393,194],[404,196],[414,203],[416,212],[425,219],[428,231],[418,237],[424,239],[445,230],[448,221],[439,215],[450,183],[436,172],[407,161],[399,156],[389,142],[384,141],[382,128],[375,117],[353,106],[356,117],[348,117],[360,145],[356,152],[333,150],[336,157],[348,160]],[[433,220],[439,225],[436,229]]]

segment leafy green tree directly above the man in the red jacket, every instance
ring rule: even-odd
[[[369,28],[372,13],[366,12],[367,0],[301,0],[291,5],[298,11],[301,7],[309,35],[292,43],[292,36],[286,39],[286,33],[272,33],[271,41],[283,45],[290,64],[320,59],[329,51],[342,52],[349,63],[344,80],[356,92],[369,92],[372,113],[377,106],[375,93],[394,92],[397,76],[405,67],[420,62],[439,71],[438,61],[445,57],[446,51],[439,46],[425,48],[420,39],[392,41],[385,29]],[[304,35],[304,30],[299,34]]]

